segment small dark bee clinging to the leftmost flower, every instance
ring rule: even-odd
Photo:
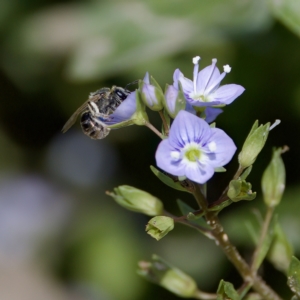
[[[81,128],[84,134],[92,139],[103,139],[109,132],[110,128],[104,123],[108,120],[117,107],[128,97],[131,92],[117,86],[102,88],[91,93],[85,101],[71,116],[62,129],[65,133],[74,125],[77,117],[81,114]]]

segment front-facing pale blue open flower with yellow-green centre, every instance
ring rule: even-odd
[[[223,130],[210,128],[201,118],[182,110],[155,157],[162,170],[203,184],[213,176],[215,168],[232,159],[235,151],[234,142]]]

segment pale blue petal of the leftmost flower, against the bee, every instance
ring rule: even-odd
[[[105,121],[107,125],[113,125],[122,121],[129,120],[136,111],[136,98],[135,92],[129,96],[118,106],[115,112],[109,115],[109,120]]]

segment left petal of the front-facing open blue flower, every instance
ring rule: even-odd
[[[185,164],[183,161],[181,159],[174,161],[171,157],[171,152],[176,150],[170,145],[168,139],[161,141],[155,153],[156,165],[172,175],[184,176]]]

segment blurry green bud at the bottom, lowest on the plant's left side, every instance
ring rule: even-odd
[[[182,298],[193,298],[197,284],[193,278],[173,267],[157,255],[152,262],[139,262],[138,274]]]

